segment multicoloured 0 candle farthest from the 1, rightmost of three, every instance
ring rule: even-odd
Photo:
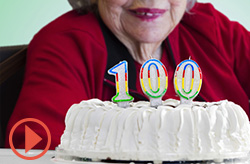
[[[175,70],[174,86],[181,103],[190,104],[198,95],[202,84],[202,73],[199,65],[189,59],[182,61]]]

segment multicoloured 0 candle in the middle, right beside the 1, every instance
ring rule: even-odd
[[[150,99],[151,106],[162,104],[162,96],[168,87],[168,75],[165,66],[157,59],[146,61],[140,70],[141,88]]]

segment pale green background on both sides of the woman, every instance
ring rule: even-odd
[[[198,1],[211,2],[250,31],[250,0]],[[0,0],[0,46],[28,44],[43,26],[69,10],[67,0]]]

